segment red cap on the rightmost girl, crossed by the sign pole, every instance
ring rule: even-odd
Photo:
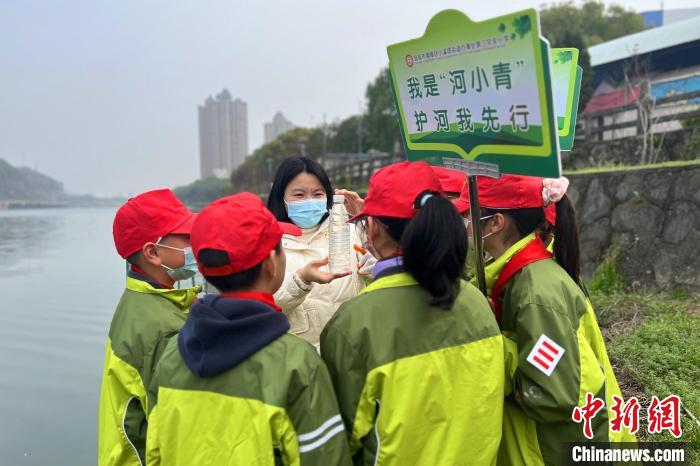
[[[500,178],[477,177],[479,205],[489,209],[529,209],[543,207],[542,178],[502,175]],[[469,182],[452,201],[459,213],[469,210]]]

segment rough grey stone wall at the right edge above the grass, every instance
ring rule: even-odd
[[[613,245],[632,288],[700,294],[700,165],[570,175],[584,275]]]

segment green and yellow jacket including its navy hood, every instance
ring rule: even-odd
[[[147,464],[350,465],[328,371],[288,331],[261,301],[197,301],[149,390]]]

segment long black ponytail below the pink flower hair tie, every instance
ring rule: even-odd
[[[557,206],[557,221],[554,225],[554,258],[566,273],[581,286],[581,253],[578,240],[576,209],[568,196],[564,195]]]

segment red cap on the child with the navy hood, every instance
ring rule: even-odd
[[[258,265],[275,249],[283,234],[299,236],[291,223],[279,222],[253,193],[222,197],[197,215],[192,227],[192,252],[202,275],[220,277]],[[229,264],[207,267],[199,260],[204,249],[223,251]]]

